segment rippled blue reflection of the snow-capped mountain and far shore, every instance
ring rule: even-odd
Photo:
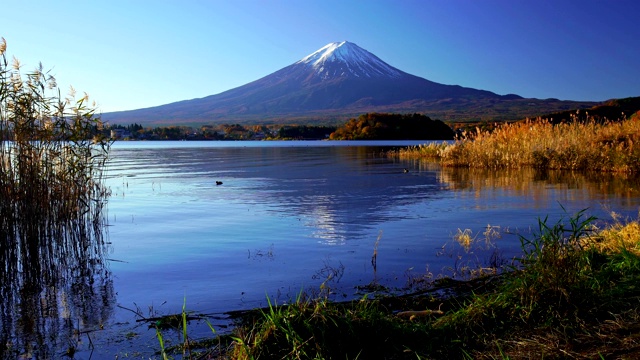
[[[386,149],[134,148],[116,150],[111,170],[121,178],[158,184],[200,182],[174,195],[211,204],[211,211],[218,202],[225,208],[232,202],[258,205],[275,217],[295,216],[312,229],[313,238],[340,244],[361,238],[376,224],[413,216],[394,211],[398,206],[442,196],[435,171],[407,174],[403,164],[381,156]],[[224,185],[211,191],[215,181]]]

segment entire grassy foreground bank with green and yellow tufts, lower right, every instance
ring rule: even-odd
[[[552,225],[539,221],[537,233],[521,239],[523,256],[511,271],[460,283],[465,289],[474,286],[471,295],[432,293],[346,304],[300,297],[292,305],[270,305],[236,330],[230,357],[640,355],[640,226],[618,223],[596,231],[593,221],[584,212]],[[440,308],[444,315],[436,317]],[[407,312],[398,310],[408,309],[416,311],[399,316]]]

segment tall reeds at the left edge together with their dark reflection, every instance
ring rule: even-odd
[[[88,96],[63,98],[41,64],[27,73],[17,59],[9,64],[0,38],[2,358],[35,348],[56,357],[42,350],[60,332],[55,324],[79,331],[57,315],[75,306],[83,324],[94,322],[103,311],[91,294],[112,291],[103,258],[110,142],[96,135],[101,126]]]

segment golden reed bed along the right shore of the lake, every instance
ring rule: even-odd
[[[463,132],[453,143],[432,143],[390,153],[399,158],[436,159],[471,168],[640,171],[640,116],[619,121],[553,124],[537,119],[505,123],[492,131]]]

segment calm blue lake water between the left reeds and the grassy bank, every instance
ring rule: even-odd
[[[365,285],[398,290],[429,272],[460,276],[452,269],[508,259],[539,217],[588,209],[637,218],[636,179],[441,169],[380,155],[418,143],[115,143],[106,255],[114,295],[83,324],[104,330],[91,333],[93,351],[83,337],[76,358],[153,356],[155,332],[132,310],[178,313],[186,299],[224,331],[225,312],[265,306],[267,296],[282,304],[324,282],[333,299],[352,299]],[[465,250],[453,239],[459,231],[477,243]],[[190,330],[210,334],[197,322]]]

